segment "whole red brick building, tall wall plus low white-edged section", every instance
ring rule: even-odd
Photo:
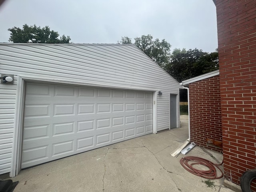
[[[224,177],[240,184],[256,168],[256,0],[213,1],[219,75],[183,82],[190,89],[190,137],[213,150],[206,138],[222,140]]]

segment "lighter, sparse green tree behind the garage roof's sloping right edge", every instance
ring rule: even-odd
[[[142,35],[141,37],[134,38],[134,44],[149,56],[159,66],[164,67],[170,62],[170,48],[171,45],[165,39],[153,40],[151,35]],[[121,44],[132,44],[131,38],[122,37]]]

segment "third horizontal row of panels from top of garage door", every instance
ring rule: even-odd
[[[112,119],[112,120],[111,120]],[[74,120],[71,119],[70,120]],[[44,120],[38,120],[38,124],[34,120],[27,122],[26,127],[24,127],[24,138],[35,138],[45,137],[45,136],[58,136],[62,134],[70,134],[74,132],[89,132],[93,130],[102,130],[102,129],[122,129],[135,125],[151,125],[152,124],[152,115],[132,115],[132,116],[117,116],[116,118],[99,118],[92,120],[84,120],[77,122],[70,122],[66,120],[65,122],[51,121],[50,125],[45,125]],[[52,130],[50,132],[49,130]],[[28,134],[27,134],[28,132]],[[88,133],[87,133],[88,134]]]

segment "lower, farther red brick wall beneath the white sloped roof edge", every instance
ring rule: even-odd
[[[222,142],[219,75],[189,84],[190,140],[222,152],[206,139]]]

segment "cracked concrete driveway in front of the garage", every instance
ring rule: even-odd
[[[174,158],[170,153],[188,138],[188,119],[181,128],[149,134],[22,170],[14,192],[231,192],[223,178],[195,176],[180,165],[183,156],[212,162],[222,154],[199,146]]]

